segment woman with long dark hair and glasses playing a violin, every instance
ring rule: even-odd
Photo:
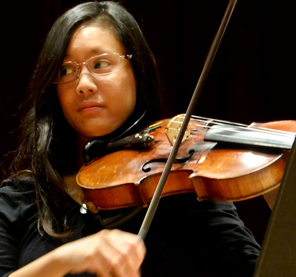
[[[84,145],[154,121],[158,87],[153,54],[119,4],[83,3],[55,22],[0,189],[1,277],[252,276],[259,245],[232,203],[162,198],[145,244],[134,235],[144,208],[80,212],[67,176]]]

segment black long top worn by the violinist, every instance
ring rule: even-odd
[[[7,277],[61,244],[100,231],[114,213],[81,214],[80,206],[73,200],[65,211],[73,235],[42,237],[37,231],[35,192],[19,189],[30,183],[29,178],[6,180],[0,188],[0,277]],[[146,209],[140,209],[128,220],[116,221],[113,227],[137,234],[145,213]],[[233,203],[199,202],[194,194],[160,200],[145,244],[147,256],[142,277],[252,277],[260,249],[238,218]]]

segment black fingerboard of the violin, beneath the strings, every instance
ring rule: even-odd
[[[213,125],[204,136],[205,141],[235,143],[259,147],[291,149],[295,136],[277,132],[261,132],[252,128],[241,129],[231,125]]]

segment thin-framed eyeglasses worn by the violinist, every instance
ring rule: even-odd
[[[121,59],[130,60],[132,55],[120,56],[117,53],[105,53],[95,57],[91,57],[84,63],[65,62],[59,71],[56,83],[68,82],[79,77],[81,65],[86,64],[89,71],[95,75],[106,75],[119,69]]]

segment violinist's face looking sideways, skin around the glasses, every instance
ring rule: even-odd
[[[103,53],[130,54],[110,28],[81,25],[74,31],[64,62],[83,63]],[[57,94],[65,118],[78,138],[85,140],[109,134],[129,118],[136,103],[136,80],[127,59],[107,75],[94,75],[81,64],[79,78],[57,83]]]

